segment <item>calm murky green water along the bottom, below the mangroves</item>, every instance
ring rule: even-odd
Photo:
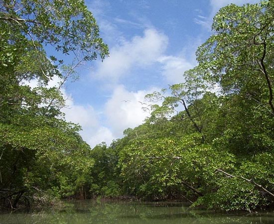
[[[180,203],[81,201],[40,212],[1,214],[0,224],[274,224],[274,213],[235,215]]]

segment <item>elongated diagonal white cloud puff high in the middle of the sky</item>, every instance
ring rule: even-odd
[[[165,51],[167,44],[166,35],[152,28],[146,29],[143,36],[135,36],[131,41],[124,41],[110,49],[110,57],[99,64],[96,76],[118,81],[133,67],[155,63]]]

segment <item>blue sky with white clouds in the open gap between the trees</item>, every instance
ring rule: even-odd
[[[212,34],[223,6],[258,0],[86,0],[110,56],[80,66],[79,79],[62,92],[67,121],[79,123],[94,147],[123,137],[149,115],[144,96],[184,81],[195,51]],[[51,85],[55,85],[53,80]]]

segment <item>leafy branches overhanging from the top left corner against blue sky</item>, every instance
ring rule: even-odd
[[[83,0],[1,0],[0,20],[10,30],[32,41],[51,44],[64,54],[81,54],[84,60],[108,55],[99,27]],[[3,32],[4,30],[2,30]]]

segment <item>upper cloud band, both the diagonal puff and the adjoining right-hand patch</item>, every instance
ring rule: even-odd
[[[193,68],[196,62],[193,63],[191,58],[186,59],[184,56],[166,55],[164,51],[167,45],[166,35],[152,28],[146,29],[143,36],[135,36],[131,41],[123,41],[123,44],[113,47],[110,57],[99,64],[95,74],[98,78],[113,83],[130,75],[131,70],[155,64],[161,68],[165,82],[182,82],[184,71]],[[196,45],[191,50],[193,55],[195,50]]]

